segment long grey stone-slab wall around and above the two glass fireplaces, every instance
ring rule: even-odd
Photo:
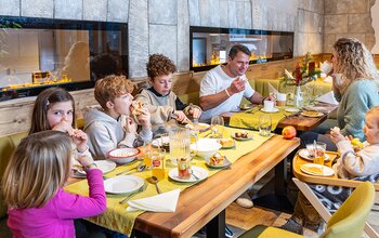
[[[146,75],[148,54],[190,69],[190,26],[295,32],[295,55],[322,53],[324,0],[0,0],[0,15],[122,22],[129,77]]]

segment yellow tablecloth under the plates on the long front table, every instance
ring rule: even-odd
[[[237,131],[238,131],[238,129],[225,128],[224,134],[234,134]],[[207,134],[207,133],[208,132],[205,132],[204,134]],[[265,141],[267,141],[270,138],[270,136],[269,137],[260,136],[258,132],[252,132],[252,131],[250,132],[249,131],[249,133],[251,133],[253,135],[252,140],[241,141],[241,142],[237,141],[236,148],[234,148],[234,149],[221,149],[221,150],[219,150],[219,153],[221,155],[226,156],[227,159],[233,163],[238,158],[240,158],[241,156],[256,149],[257,147],[259,147],[261,144],[263,144]],[[201,137],[201,134],[200,134],[200,137]],[[168,157],[169,156],[167,156],[167,159],[168,159]],[[220,171],[219,169],[208,168],[206,166],[205,160],[202,158],[199,158],[199,157],[194,157],[192,164],[196,166],[196,167],[201,167],[201,168],[208,170],[208,173],[209,173],[208,176],[211,176],[214,173],[217,173],[218,171]],[[135,166],[136,166],[136,162],[134,162],[132,164],[128,164],[128,166],[118,167],[118,168],[116,168],[116,170],[105,174],[105,176],[113,177],[116,175],[116,173],[125,171],[125,170],[130,169],[130,168],[133,168]],[[169,190],[173,190],[177,188],[181,188],[183,190],[183,189],[191,187],[192,185],[195,184],[195,183],[179,183],[179,182],[174,182],[172,180],[169,180],[167,174],[169,173],[170,170],[175,169],[175,167],[172,166],[170,162],[166,162],[165,167],[166,167],[166,178],[158,183],[159,188],[164,193],[169,191]],[[140,177],[147,178],[147,177],[152,176],[152,171],[145,170],[143,172],[133,173],[133,175],[138,175]],[[82,196],[89,195],[89,187],[88,187],[87,180],[80,181],[80,182],[75,183],[75,184],[70,184],[70,185],[66,186],[64,189],[68,193],[79,194]],[[151,197],[151,196],[154,196],[156,194],[157,194],[157,191],[155,189],[155,186],[152,184],[148,184],[145,191],[135,195],[131,200]],[[126,208],[128,207],[128,203],[125,203],[125,204],[118,203],[125,197],[126,197],[126,195],[109,195],[109,194],[107,194],[106,195],[106,198],[107,198],[106,199],[106,201],[107,201],[106,212],[101,214],[101,215],[94,216],[94,217],[89,217],[88,220],[97,224],[97,225],[101,225],[101,226],[107,227],[109,229],[113,229],[113,230],[116,230],[116,232],[119,232],[119,233],[122,233],[122,234],[130,236],[135,219],[144,211],[127,212]]]

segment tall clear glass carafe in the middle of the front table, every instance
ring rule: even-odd
[[[171,127],[170,133],[170,161],[177,166],[181,158],[190,159],[191,132],[186,128]]]

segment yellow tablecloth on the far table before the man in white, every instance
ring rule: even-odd
[[[274,131],[277,124],[279,123],[279,121],[283,120],[286,116],[290,115],[289,113],[285,111],[284,107],[280,107],[278,109],[279,110],[277,113],[267,114],[262,111],[261,107],[254,107],[244,113],[234,114],[231,117],[228,124],[235,128],[249,128],[249,129],[259,130],[259,117],[263,114],[266,114],[271,116],[271,120],[272,120],[271,130]]]

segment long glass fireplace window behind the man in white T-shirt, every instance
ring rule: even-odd
[[[245,44],[251,51],[250,64],[292,57],[293,32],[191,27],[191,66],[195,71],[208,70],[226,63],[234,44]]]

